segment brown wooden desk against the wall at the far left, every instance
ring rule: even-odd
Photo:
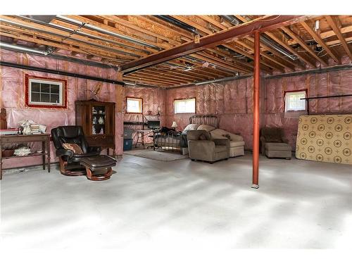
[[[42,153],[32,153],[27,156],[3,157],[1,146],[4,143],[28,143],[42,142]],[[46,150],[45,150],[46,149]],[[0,135],[0,180],[2,180],[2,160],[8,158],[24,158],[30,156],[42,156],[43,170],[45,170],[45,156],[47,156],[48,172],[50,172],[50,134],[11,134]]]

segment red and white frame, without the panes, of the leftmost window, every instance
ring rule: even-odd
[[[32,84],[32,81],[35,81],[35,80],[37,80],[39,83],[59,85],[59,87],[61,87],[61,93],[59,92],[59,97],[61,97],[62,103],[56,104],[56,103],[31,101],[31,92],[32,92],[31,84]],[[30,108],[55,108],[55,109],[67,108],[67,80],[26,74],[25,75],[25,106]]]

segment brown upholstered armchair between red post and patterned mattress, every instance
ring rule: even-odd
[[[268,158],[291,159],[292,148],[281,127],[263,127],[260,130],[260,152]]]

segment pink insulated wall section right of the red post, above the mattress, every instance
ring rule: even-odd
[[[265,125],[284,128],[295,149],[298,118],[284,117],[284,92],[307,89],[308,97],[352,94],[351,70],[265,80]],[[352,113],[352,96],[313,99],[310,114]]]

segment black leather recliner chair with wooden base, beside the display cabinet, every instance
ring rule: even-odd
[[[101,147],[88,145],[81,126],[68,125],[53,128],[51,137],[56,148],[56,156],[59,158],[60,171],[63,175],[85,175],[86,169],[80,165],[80,159],[97,156],[101,152]],[[77,144],[81,147],[83,154],[76,154],[71,150],[64,149],[63,143]]]

